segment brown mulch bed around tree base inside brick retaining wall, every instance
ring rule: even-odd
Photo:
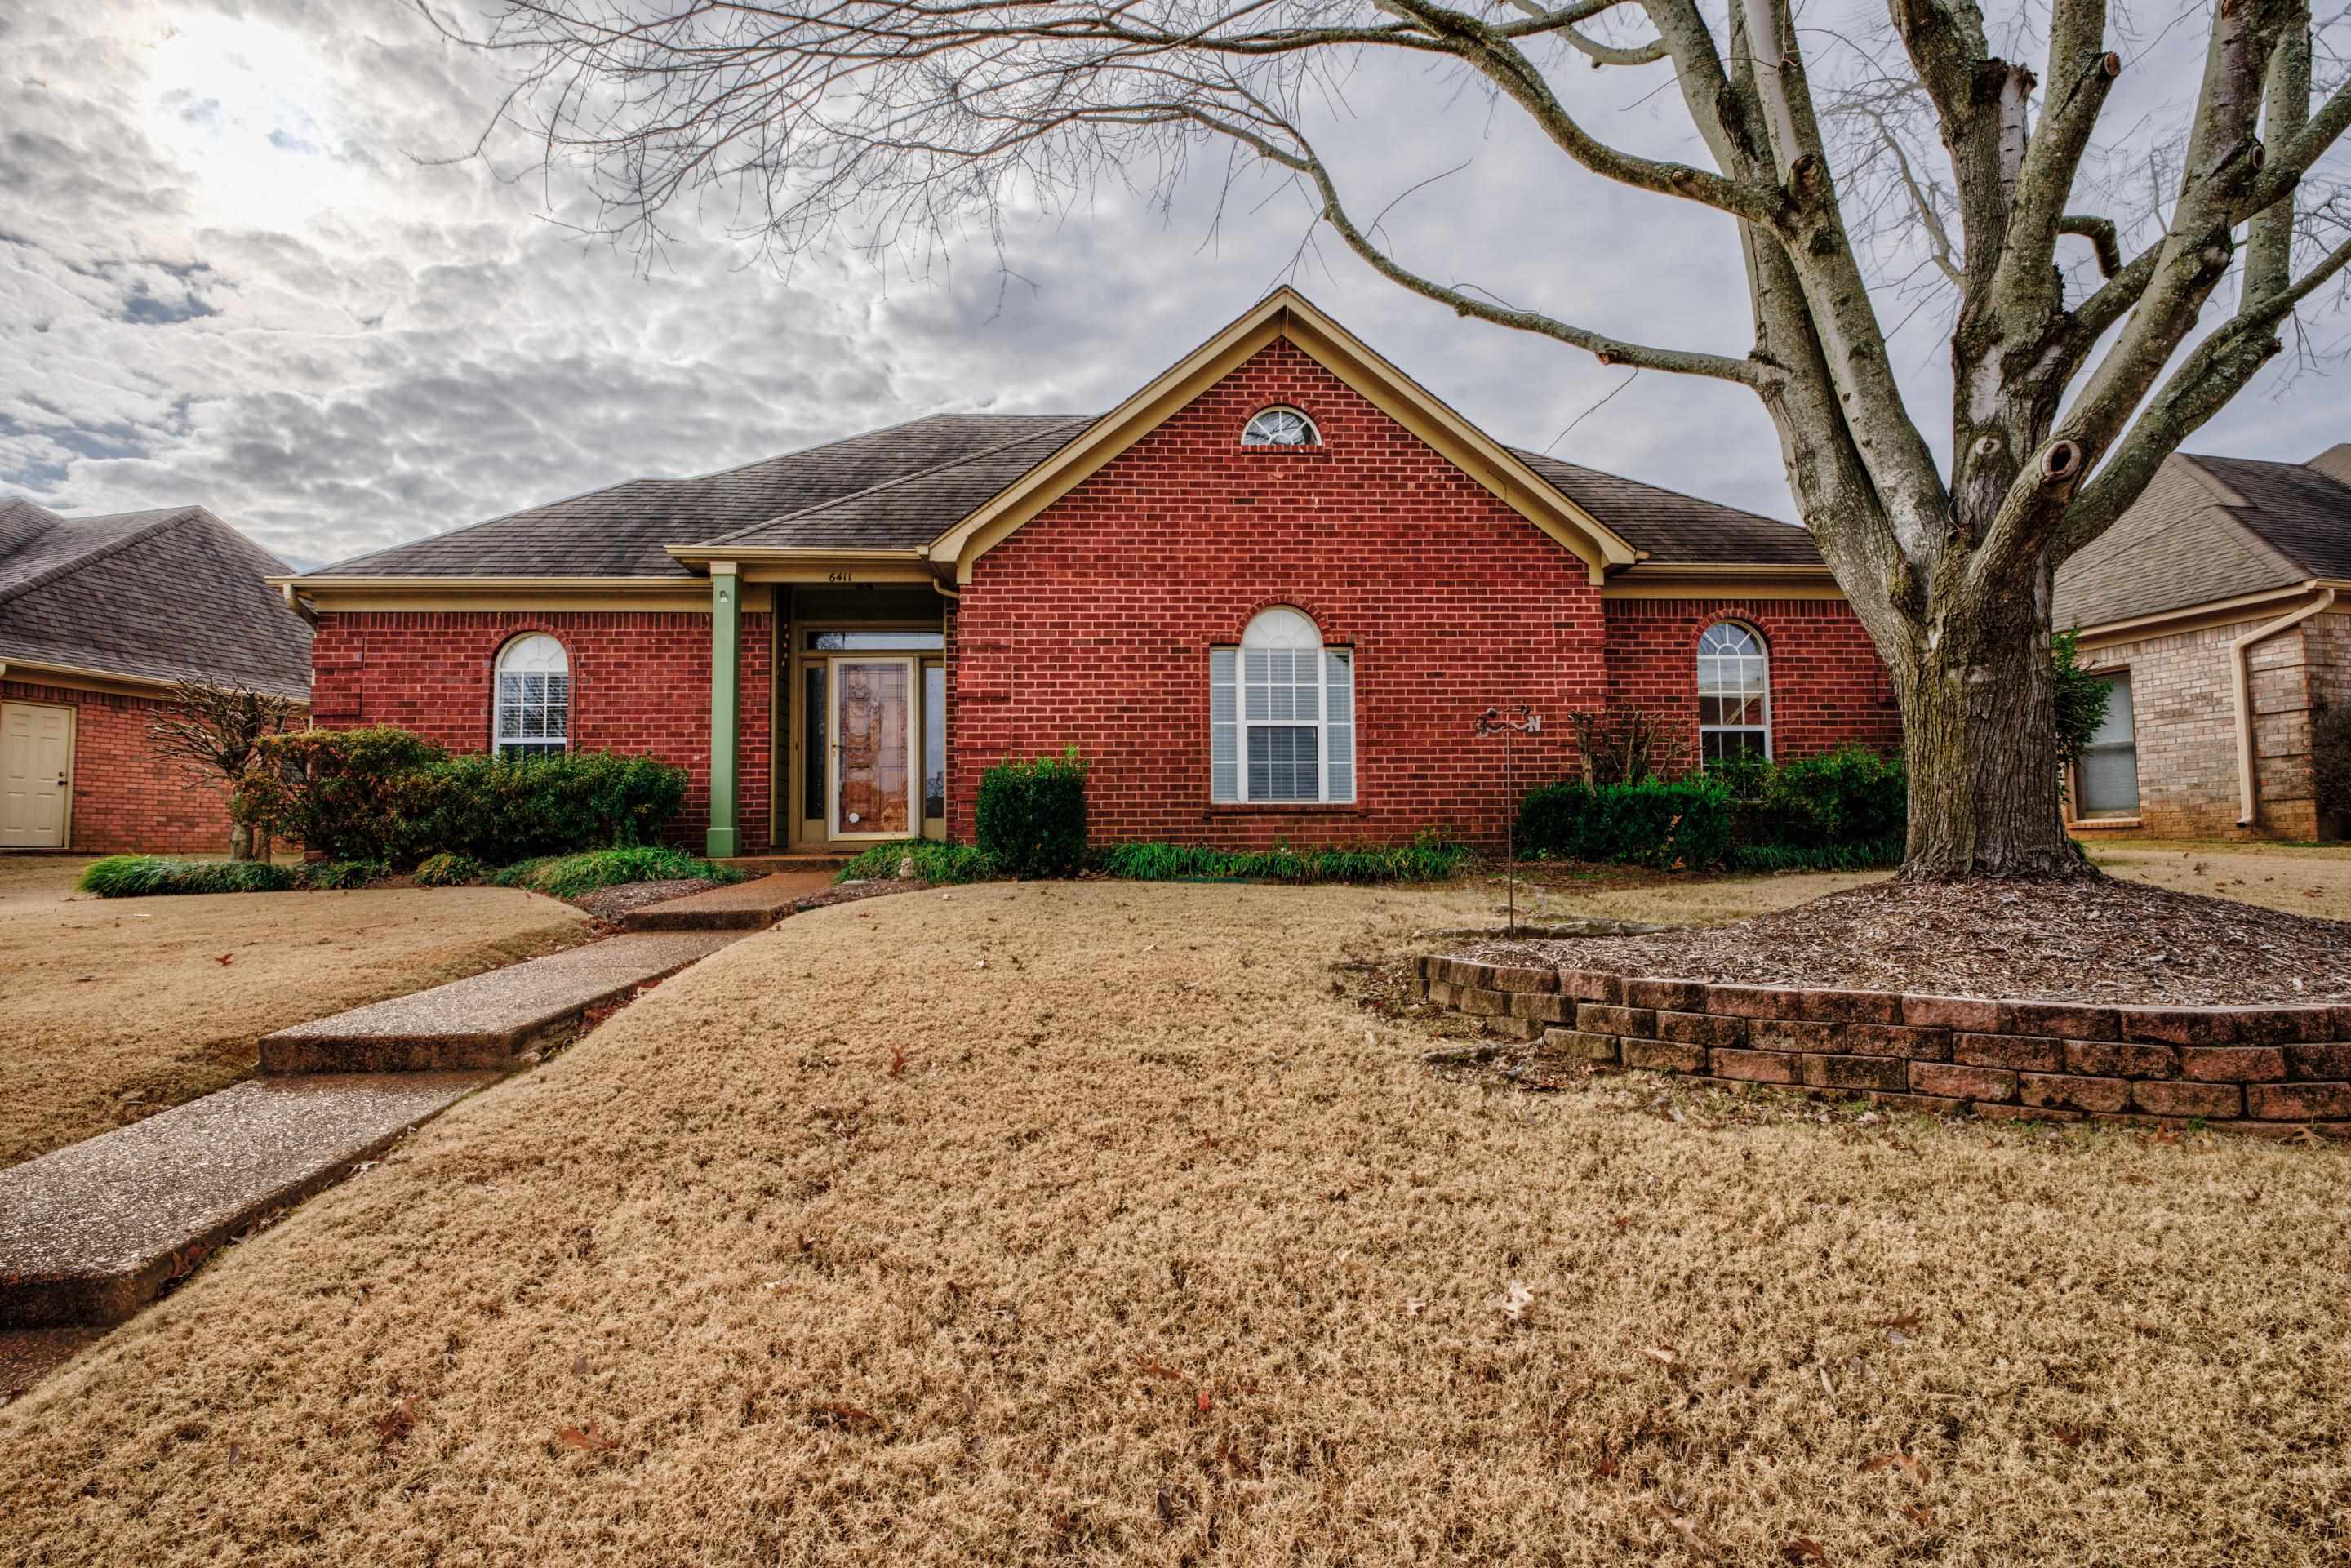
[[[1479,940],[1488,964],[1730,985],[2229,1006],[2351,999],[2351,922],[2109,877],[1881,882],[1733,926]]]

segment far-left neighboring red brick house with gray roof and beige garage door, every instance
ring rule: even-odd
[[[226,790],[158,757],[148,724],[176,679],[308,698],[282,571],[200,505],[0,501],[0,849],[226,851]]]

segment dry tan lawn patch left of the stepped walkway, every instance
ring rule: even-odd
[[[0,856],[0,1166],[237,1081],[270,1030],[588,940],[513,889],[87,898],[85,865]]]

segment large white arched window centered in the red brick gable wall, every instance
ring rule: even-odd
[[[1354,799],[1354,654],[1277,604],[1237,649],[1208,649],[1208,792],[1220,802]]]

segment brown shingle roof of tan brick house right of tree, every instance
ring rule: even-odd
[[[2057,569],[2055,621],[2111,625],[2313,578],[2351,578],[2351,447],[2309,463],[2179,451]]]

